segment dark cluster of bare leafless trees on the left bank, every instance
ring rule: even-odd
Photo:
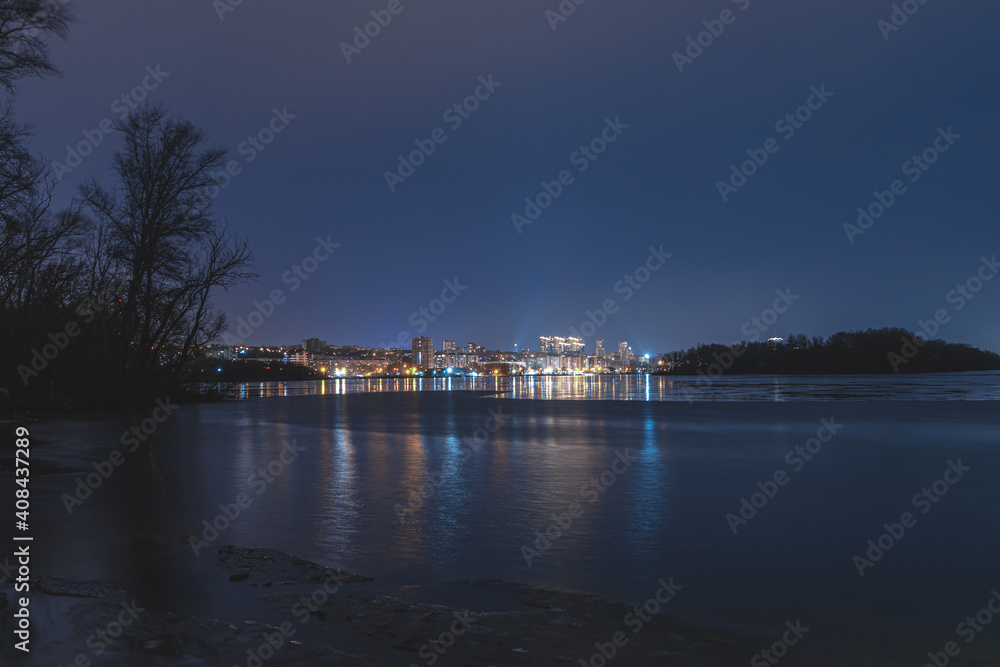
[[[246,243],[211,211],[225,153],[190,122],[140,108],[114,128],[107,176],[60,192],[72,198],[57,210],[66,168],[31,150],[15,89],[55,72],[46,40],[71,20],[66,3],[0,2],[0,388],[22,405],[176,398],[225,328],[212,296],[254,277]]]

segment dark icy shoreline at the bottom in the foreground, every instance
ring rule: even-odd
[[[168,558],[181,558],[179,549],[186,550],[177,538],[155,541],[157,548],[177,552]],[[683,589],[672,579],[661,580],[641,605],[499,580],[445,584],[470,598],[508,601],[506,609],[487,611],[475,604],[409,602],[366,591],[365,582],[371,580],[364,576],[275,549],[227,545],[212,553],[217,562],[205,592],[250,600],[238,618],[143,606],[147,603],[137,602],[134,591],[114,583],[38,577],[31,581],[32,595],[44,596],[43,605],[59,610],[58,618],[49,619],[43,630],[46,643],[34,644],[28,661],[10,651],[5,657],[19,664],[70,664],[76,656],[94,658],[101,649],[106,657],[91,664],[187,665],[194,664],[191,658],[199,659],[197,664],[256,664],[254,655],[266,662],[273,654],[280,659],[275,664],[305,667],[487,667],[572,665],[611,653],[622,664],[637,667],[662,665],[665,656],[686,665],[721,667],[745,660],[768,641],[739,628],[669,613],[671,596]],[[0,584],[3,592],[13,595],[7,584]],[[109,635],[98,634],[95,639],[94,628],[113,628],[123,609],[132,611],[122,623],[121,638],[108,641]],[[798,651],[797,664],[833,667],[842,664],[836,653],[830,647],[805,647]]]

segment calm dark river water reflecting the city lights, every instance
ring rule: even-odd
[[[1000,586],[1000,374],[727,379],[701,388],[714,400],[690,404],[677,384],[248,386],[290,397],[180,408],[73,516],[60,494],[120,447],[130,422],[46,422],[35,429],[38,456],[73,472],[34,482],[49,498],[36,507],[40,523],[63,550],[43,559],[67,578],[145,580],[137,536],[201,532],[220,503],[246,493],[253,504],[216,546],[284,549],[402,597],[449,603],[441,584],[491,578],[642,602],[673,577],[684,586],[674,613],[764,636],[802,619],[811,641],[840,647],[850,664],[921,665],[961,641],[957,624]],[[497,413],[502,426],[463,455]],[[786,459],[823,419],[842,428],[811,460]],[[255,471],[286,442],[304,450],[257,493]],[[615,461],[626,452],[623,468]],[[914,495],[959,459],[971,470],[921,514]],[[734,534],[726,515],[778,471],[787,484]],[[602,474],[604,490],[588,490]],[[411,505],[429,479],[433,495]],[[522,547],[574,502],[580,515],[529,565]],[[412,511],[401,520],[400,508]],[[908,511],[916,525],[859,576],[853,557]],[[199,597],[196,572],[164,567],[163,586],[146,584],[151,599],[218,612],[219,601]],[[961,657],[997,664],[998,637],[1000,618]]]

